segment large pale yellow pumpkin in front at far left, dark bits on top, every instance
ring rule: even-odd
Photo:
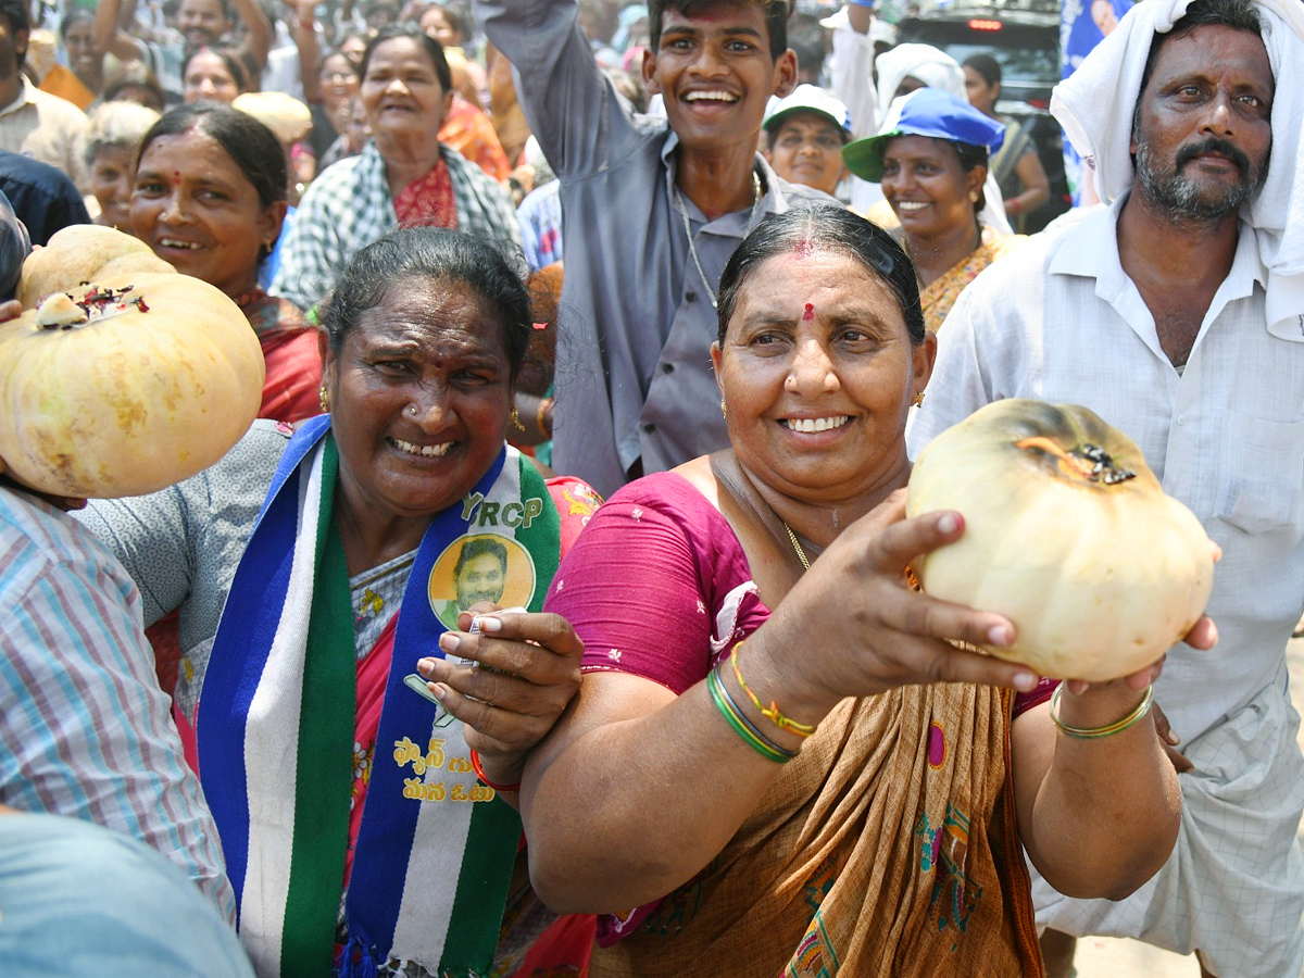
[[[240,308],[189,275],[60,292],[0,323],[0,459],[46,493],[150,493],[240,439],[263,373]]]

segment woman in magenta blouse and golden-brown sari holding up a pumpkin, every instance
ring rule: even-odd
[[[592,974],[1041,974],[1020,844],[1114,897],[1171,849],[1176,776],[1138,722],[1159,662],[1067,683],[1060,722],[1121,726],[1068,737],[1050,683],[947,642],[1009,645],[1008,619],[908,585],[965,532],[902,519],[935,349],[885,232],[767,218],[721,279],[733,447],[618,492],[562,562],[546,606],[587,675],[522,811],[540,896],[613,914]]]

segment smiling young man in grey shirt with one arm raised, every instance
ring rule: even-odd
[[[828,200],[756,153],[769,96],[797,77],[788,12],[788,0],[653,0],[643,80],[666,111],[653,120],[600,74],[575,0],[477,3],[562,181],[553,466],[604,494],[724,447],[709,355],[720,273],[765,214]]]

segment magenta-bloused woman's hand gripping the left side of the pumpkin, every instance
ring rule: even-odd
[[[785,700],[805,702],[814,712],[827,711],[845,696],[911,683],[973,682],[1031,690],[1038,677],[1028,666],[947,642],[1009,645],[1015,642],[1013,622],[940,601],[906,584],[904,571],[910,561],[962,535],[964,519],[957,512],[905,519],[904,489],[848,527],[775,612],[777,627],[764,648],[776,689],[788,690]],[[776,661],[784,644],[801,659]],[[759,656],[754,662],[765,665]]]

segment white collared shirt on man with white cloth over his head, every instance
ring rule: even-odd
[[[1123,271],[1121,206],[1031,239],[964,291],[909,447],[1000,398],[1082,404],[1137,442],[1223,549],[1208,609],[1221,640],[1175,645],[1157,685],[1191,739],[1273,681],[1304,604],[1304,343],[1267,333],[1266,273],[1243,224],[1179,376]]]

